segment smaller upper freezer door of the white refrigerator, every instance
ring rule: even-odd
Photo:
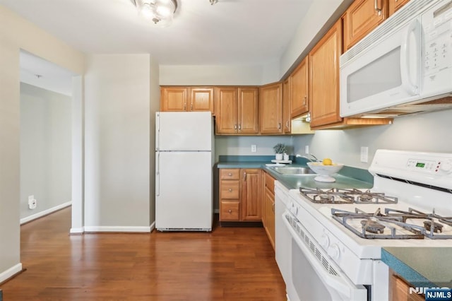
[[[156,151],[212,151],[210,112],[157,112]]]

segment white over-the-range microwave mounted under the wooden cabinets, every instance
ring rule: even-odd
[[[341,117],[445,107],[452,108],[451,0],[411,0],[340,57]]]

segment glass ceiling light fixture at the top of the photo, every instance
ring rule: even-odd
[[[138,14],[147,20],[152,20],[160,27],[172,23],[177,9],[177,0],[131,0],[138,9]]]

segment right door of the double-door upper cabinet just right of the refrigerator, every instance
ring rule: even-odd
[[[258,134],[258,89],[239,88],[239,134]]]

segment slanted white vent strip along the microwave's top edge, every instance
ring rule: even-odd
[[[419,0],[408,2],[403,8],[400,8],[399,11],[394,13],[391,18],[388,18],[383,24],[369,33],[369,35],[357,42],[355,46],[348,49],[347,52],[340,57],[340,64],[347,63],[347,61],[356,57],[357,54],[369,49],[372,44],[378,42],[382,37],[385,37],[391,31],[396,30],[400,25],[404,25],[408,20],[412,19],[413,16],[419,15],[424,8],[427,8],[428,4],[432,4],[432,1]]]

